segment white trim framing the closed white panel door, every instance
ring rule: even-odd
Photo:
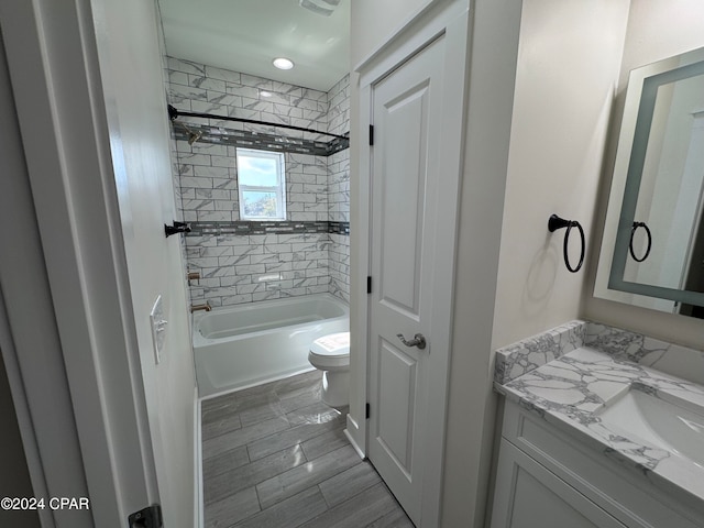
[[[464,110],[466,106],[466,72],[469,57],[469,36],[470,36],[470,16],[469,1],[457,0],[452,2],[433,2],[429,9],[420,11],[418,16],[409,21],[409,23],[399,32],[397,32],[389,41],[381,46],[374,54],[360,66],[355,72],[360,74],[360,108],[359,108],[359,130],[365,133],[372,123],[373,101],[372,87],[385,76],[391,74],[406,61],[413,57],[420,50],[436,41],[441,35],[447,38],[446,44],[446,64],[444,75],[446,81],[443,86],[443,101],[448,102],[443,106],[442,122],[446,140],[442,142],[442,160],[443,169],[440,170],[446,178],[455,178],[458,193],[455,200],[447,204],[444,211],[448,218],[453,219],[443,226],[443,235],[437,239],[437,251],[452,255],[451,258],[441,263],[441,268],[436,270],[436,277],[452,277],[450,284],[454,283],[454,264],[457,257],[457,235],[459,226],[459,199],[463,173],[463,145],[464,145]],[[360,140],[365,139],[360,134]],[[353,271],[358,288],[358,302],[353,309],[356,312],[359,321],[359,349],[356,354],[358,364],[354,373],[360,376],[358,384],[360,389],[356,392],[358,399],[365,398],[364,402],[350,402],[351,416],[348,417],[348,430],[350,431],[356,443],[364,442],[360,446],[362,451],[366,451],[369,447],[369,428],[363,415],[355,416],[352,413],[359,409],[363,411],[366,398],[369,398],[369,315],[370,298],[366,294],[366,276],[371,274],[371,146],[366,141],[360,141],[359,150],[359,177],[360,177],[360,196],[358,197],[358,223],[354,227],[362,233],[359,245],[353,249],[358,253],[355,262],[361,265]],[[366,237],[366,239],[364,239]],[[431,399],[428,407],[428,430],[432,431],[428,438],[426,447],[427,465],[424,474],[424,491],[421,504],[421,527],[435,527],[440,522],[440,507],[442,502],[442,476],[444,460],[444,439],[446,439],[446,418],[448,405],[449,389],[449,366],[451,360],[452,343],[452,306],[453,293],[452,286],[447,292],[449,302],[440,307],[433,312],[433,349],[447,350],[447,361],[433,362],[433,369],[430,372],[430,385],[441,387],[441,389],[431,393]],[[354,375],[354,374],[353,374]],[[373,413],[373,410],[372,410]],[[362,426],[363,425],[363,426]],[[356,426],[356,430],[351,429]]]

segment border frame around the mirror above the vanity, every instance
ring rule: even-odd
[[[693,75],[704,75],[704,47],[636,68],[630,73],[602,237],[594,286],[595,297],[636,305],[651,305],[651,299],[658,298],[704,306],[704,293],[634,283],[623,278],[657,89],[662,84],[690,78]],[[616,251],[617,248],[619,251]],[[638,302],[641,297],[641,302]],[[658,309],[653,306],[648,307]]]

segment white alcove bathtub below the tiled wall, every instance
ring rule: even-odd
[[[348,305],[330,294],[264,300],[194,314],[199,396],[312,370],[310,343],[350,329]]]

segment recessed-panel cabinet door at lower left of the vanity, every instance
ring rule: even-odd
[[[534,459],[502,439],[492,528],[625,528]]]

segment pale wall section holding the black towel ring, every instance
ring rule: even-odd
[[[557,213],[584,228],[594,251],[594,205],[620,66],[628,1],[526,0],[504,206],[493,348],[581,315],[587,262],[562,258]],[[570,237],[572,266],[579,233]]]

